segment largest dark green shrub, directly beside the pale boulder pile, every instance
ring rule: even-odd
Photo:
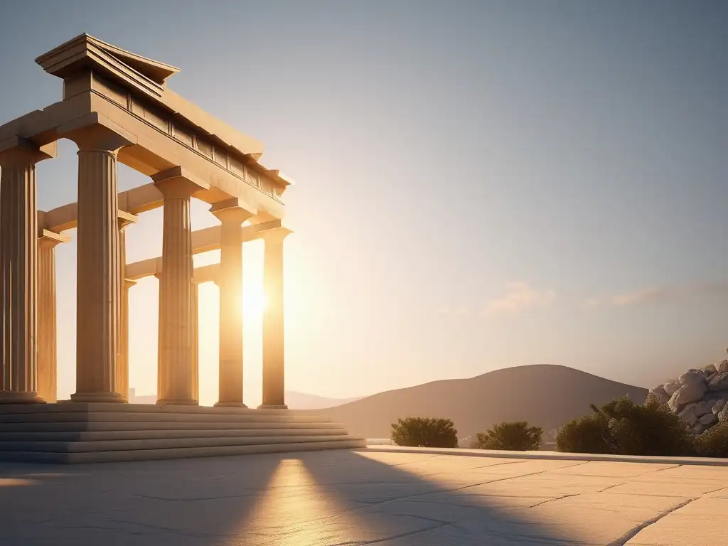
[[[557,451],[620,455],[686,456],[695,437],[678,416],[656,400],[635,404],[615,398],[593,414],[567,422],[556,435]]]

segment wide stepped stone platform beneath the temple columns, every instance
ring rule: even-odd
[[[123,462],[363,447],[325,416],[191,405],[0,405],[0,460]]]

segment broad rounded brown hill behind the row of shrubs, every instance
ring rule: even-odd
[[[529,365],[380,392],[325,413],[366,438],[389,438],[390,425],[400,417],[447,417],[464,438],[502,421],[525,420],[549,432],[590,413],[590,403],[623,395],[643,403],[647,389],[566,366]]]

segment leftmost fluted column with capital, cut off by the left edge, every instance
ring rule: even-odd
[[[0,403],[42,403],[38,395],[36,163],[55,156],[24,138],[0,142]]]

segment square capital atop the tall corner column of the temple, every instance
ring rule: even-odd
[[[74,141],[79,151],[106,151],[116,154],[124,146],[137,143],[131,132],[103,114],[91,112],[58,127],[58,134]]]

